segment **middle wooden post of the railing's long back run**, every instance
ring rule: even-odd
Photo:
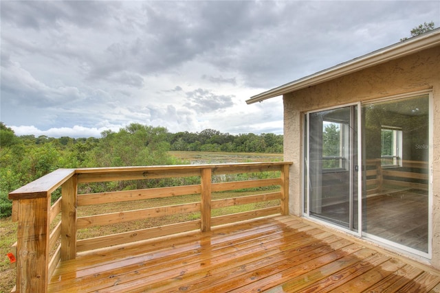
[[[211,182],[212,169],[210,167],[201,169],[200,229],[202,232],[211,231]]]

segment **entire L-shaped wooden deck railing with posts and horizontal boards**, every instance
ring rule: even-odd
[[[47,283],[60,261],[74,259],[77,253],[137,242],[153,237],[172,235],[199,229],[210,231],[212,226],[250,220],[274,214],[288,214],[289,162],[239,163],[219,165],[173,165],[150,167],[109,167],[87,169],[58,169],[9,194],[13,200],[12,219],[18,222],[17,292],[47,292]],[[248,180],[213,183],[213,178],[229,174],[275,174]],[[217,176],[217,177],[216,177]],[[197,184],[145,188],[135,190],[102,191],[78,194],[78,185],[124,180],[161,178],[199,178]],[[274,187],[270,192],[256,192],[248,196],[212,199],[212,194],[236,189]],[[61,198],[51,204],[51,196],[61,188]],[[78,217],[80,207],[115,202],[136,202],[199,194],[196,202],[116,211],[100,215]],[[212,216],[214,209],[241,204],[278,200],[272,207]],[[195,220],[174,222],[162,226],[137,228],[135,231],[77,239],[78,231],[94,226],[122,224],[149,220],[175,214],[196,213]]]

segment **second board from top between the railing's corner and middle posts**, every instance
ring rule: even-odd
[[[185,196],[190,194],[200,194],[200,192],[200,185],[183,185],[176,187],[102,192],[96,194],[78,194],[78,207],[91,204],[105,204],[110,202],[148,200],[151,198],[166,198],[170,196]]]

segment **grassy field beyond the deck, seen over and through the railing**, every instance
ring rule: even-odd
[[[247,163],[247,162],[268,162],[283,161],[283,154],[250,154],[250,153],[222,153],[222,152],[170,152],[177,159],[188,164],[210,164],[210,163]],[[250,194],[258,194],[267,191],[241,191],[241,192],[221,192],[213,194],[213,199],[230,198],[239,196],[248,196]],[[184,202],[199,201],[199,196],[179,196],[173,198],[159,198],[157,200],[149,200],[143,202],[122,202],[119,204],[102,204],[100,206],[81,207],[78,209],[78,216],[110,213],[112,211],[123,211],[133,209],[144,209],[148,207],[166,206],[170,204],[179,204]],[[234,206],[225,209],[217,209],[212,211],[212,215],[223,215],[227,213],[238,213],[250,209],[261,209],[279,204],[278,201],[262,202],[256,204],[248,204],[243,206]],[[179,222],[187,220],[199,219],[198,213],[190,213],[187,215],[175,215],[170,217],[155,218],[149,221],[138,221],[130,223],[122,223],[118,225],[108,225],[83,229],[78,231],[78,239],[88,237],[96,237],[99,235],[107,235],[120,233],[127,230],[137,228],[146,228],[147,226],[162,226],[170,222]],[[10,261],[6,256],[10,252],[10,246],[17,241],[17,223],[11,221],[10,218],[0,219],[0,292],[10,292],[15,284],[15,269],[10,268]]]

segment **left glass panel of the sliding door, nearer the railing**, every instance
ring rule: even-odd
[[[309,113],[305,120],[309,215],[350,230],[358,229],[357,108]]]

